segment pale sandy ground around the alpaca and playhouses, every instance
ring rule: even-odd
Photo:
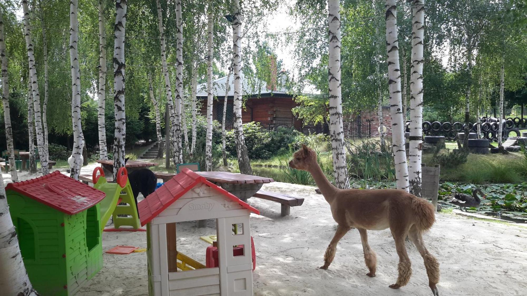
[[[83,167],[91,172],[93,166]],[[4,180],[9,175],[4,174]],[[320,270],[336,223],[329,205],[313,187],[274,182],[265,190],[302,196],[305,202],[280,216],[280,205],[252,198],[261,215],[251,214],[257,267],[255,295],[431,295],[421,256],[407,244],[412,260],[410,282],[399,290],[388,288],[397,277],[398,256],[389,230],[369,231],[377,252],[377,276],[366,276],[362,244],[356,230],[339,242],[329,270]],[[527,228],[479,221],[453,214],[437,214],[437,222],[424,235],[428,250],[441,264],[440,295],[526,295]],[[208,243],[200,235],[216,234],[215,222],[198,229],[195,222],[178,223],[178,250],[204,262]],[[103,232],[103,250],[115,245],[146,248],[145,232]],[[103,269],[77,295],[147,295],[146,253],[104,253]]]

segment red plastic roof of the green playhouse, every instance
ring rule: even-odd
[[[9,183],[14,190],[66,214],[76,214],[104,199],[104,192],[55,171],[35,179]]]

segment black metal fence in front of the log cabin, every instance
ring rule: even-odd
[[[329,134],[329,126],[327,124],[304,125],[301,127],[296,127],[291,122],[277,122],[277,123],[262,124],[261,126],[262,126],[262,129],[268,132],[276,131],[282,127],[285,129],[295,129],[305,135]],[[356,139],[356,138],[372,136],[372,124],[371,124],[371,121],[368,121],[368,120],[366,122],[361,122],[358,120],[345,121],[343,122],[343,127],[344,127],[344,137],[346,139]],[[233,124],[225,124],[225,129],[227,131],[230,131],[233,128],[234,128]]]

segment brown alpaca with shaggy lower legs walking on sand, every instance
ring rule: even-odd
[[[412,267],[406,253],[406,236],[414,242],[417,250],[423,256],[428,285],[434,296],[439,295],[436,284],[439,282],[439,263],[426,250],[422,234],[430,229],[435,221],[435,212],[430,203],[417,198],[403,190],[396,189],[338,189],[331,184],[317,163],[316,153],[302,144],[289,162],[293,169],[304,170],[313,176],[324,198],[329,203],[333,219],[337,222],[337,232],[329,243],[324,255],[324,265],[328,269],[335,258],[338,241],[352,228],[360,233],[364,250],[364,261],[369,269],[367,275],[375,277],[377,256],[368,244],[366,230],[384,230],[389,228],[395,240],[395,248],[399,255],[399,274],[397,282],[390,285],[398,289],[408,283],[412,275]]]

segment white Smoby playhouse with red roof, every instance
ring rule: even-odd
[[[138,208],[141,225],[148,224],[150,296],[253,295],[249,215],[259,214],[257,209],[189,169],[140,201]],[[204,219],[216,219],[218,267],[178,270],[175,222]],[[235,255],[233,246],[243,251]]]

